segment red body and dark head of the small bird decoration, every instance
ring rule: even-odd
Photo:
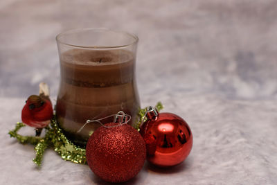
[[[52,103],[46,96],[30,96],[21,112],[22,122],[30,127],[46,127],[52,117]]]

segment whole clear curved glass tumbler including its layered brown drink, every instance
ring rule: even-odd
[[[139,110],[136,88],[138,37],[105,28],[69,30],[56,37],[60,56],[60,89],[57,96],[58,125],[73,143],[85,146],[100,127],[88,119],[123,111],[134,124]],[[107,118],[101,123],[112,122]]]

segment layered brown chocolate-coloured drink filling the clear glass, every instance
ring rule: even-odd
[[[57,122],[71,141],[84,146],[100,127],[88,119],[104,118],[119,111],[132,116],[139,109],[135,80],[135,55],[124,49],[69,49],[60,53],[60,90]],[[102,123],[112,122],[107,118]]]

